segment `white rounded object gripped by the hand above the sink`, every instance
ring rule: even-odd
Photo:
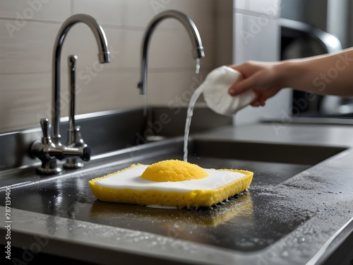
[[[240,78],[241,73],[229,66],[220,66],[210,71],[201,84],[208,107],[218,114],[231,116],[253,102],[256,98],[253,90],[247,90],[237,96],[229,95],[228,89],[235,81],[241,80]]]

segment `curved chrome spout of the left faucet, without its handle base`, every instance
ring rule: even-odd
[[[59,29],[59,33],[56,35],[53,51],[53,65],[52,65],[52,141],[55,144],[60,144],[60,60],[61,60],[61,47],[64,44],[64,40],[68,30],[71,29],[76,23],[85,23],[92,30],[97,40],[99,49],[98,59],[100,63],[107,63],[110,61],[110,52],[105,36],[104,30],[99,23],[87,14],[76,14],[66,19]]]

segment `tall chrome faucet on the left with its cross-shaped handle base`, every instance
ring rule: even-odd
[[[85,23],[92,30],[97,41],[99,53],[98,59],[101,64],[110,61],[107,37],[99,23],[87,14],[76,14],[66,19],[59,29],[54,42],[52,58],[52,134],[50,136],[50,124],[48,119],[42,119],[43,137],[42,141],[35,141],[30,146],[30,155],[42,160],[41,167],[37,171],[42,174],[56,174],[61,171],[56,165],[56,160],[64,158],[79,157],[84,161],[90,160],[90,148],[83,144],[79,147],[67,147],[60,143],[60,61],[61,48],[64,44],[66,34],[76,23]]]

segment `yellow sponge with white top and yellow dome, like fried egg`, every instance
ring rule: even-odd
[[[164,180],[165,179],[165,180]],[[213,206],[248,189],[253,172],[203,169],[180,160],[134,164],[88,182],[100,201],[126,204]]]

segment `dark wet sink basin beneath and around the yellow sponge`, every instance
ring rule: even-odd
[[[11,185],[11,208],[44,214],[48,221],[49,216],[56,216],[237,252],[256,252],[323,211],[320,194],[342,192],[340,185],[327,191],[322,184],[313,187],[312,182],[319,181],[318,165],[345,148],[197,137],[189,141],[189,162],[208,168],[250,170],[254,176],[249,190],[213,207],[192,209],[108,203],[97,200],[90,191],[88,181],[92,178],[133,163],[182,160],[183,148],[182,137],[145,143],[94,156],[83,169],[64,170],[53,177],[35,175],[32,167],[14,170],[11,178],[3,178],[0,205],[5,206],[6,186]],[[22,181],[15,183],[16,176]],[[304,201],[308,194],[314,195]],[[55,222],[52,225],[55,227]]]

